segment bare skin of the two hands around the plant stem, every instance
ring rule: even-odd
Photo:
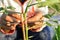
[[[41,27],[43,22],[35,22],[35,21],[39,21],[40,18],[41,18],[41,20],[43,20],[42,16],[43,16],[42,13],[38,12],[38,13],[36,13],[35,16],[33,16],[27,20],[28,23],[34,23],[35,24],[34,26],[29,27],[29,30],[34,29],[32,31],[37,32],[36,30]],[[16,29],[16,25],[18,25],[19,22],[21,22],[21,16],[18,15],[17,13],[12,13],[12,14],[8,14],[8,15],[3,14],[0,21],[1,21],[0,24],[2,24],[1,25],[2,29],[6,33],[8,33],[9,30],[15,30]],[[39,25],[39,26],[37,26],[37,25]]]

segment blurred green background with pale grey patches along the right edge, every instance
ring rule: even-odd
[[[46,0],[46,2],[38,1],[38,7],[48,6],[49,14],[45,15],[49,21],[46,22],[48,26],[53,26],[55,35],[52,40],[60,40],[60,0]],[[50,21],[53,23],[51,24]]]

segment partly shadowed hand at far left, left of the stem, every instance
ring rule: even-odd
[[[10,33],[10,30],[15,30],[16,25],[20,22],[20,15],[18,13],[11,12],[8,15],[3,14],[1,17],[1,29],[4,30],[4,32]]]

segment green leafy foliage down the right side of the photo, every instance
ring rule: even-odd
[[[40,4],[38,4],[38,7],[44,7],[48,6],[49,9],[52,9],[54,12],[52,14],[45,15],[46,18],[50,20],[52,16],[54,16],[57,13],[60,13],[60,0],[47,0],[46,2],[41,2],[40,0],[37,0]],[[55,28],[56,35],[54,36],[53,40],[60,40],[60,25],[58,24],[58,21],[51,20],[55,23],[57,23],[57,28]],[[49,22],[46,22],[48,26],[52,26]]]

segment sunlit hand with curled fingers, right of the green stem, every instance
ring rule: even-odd
[[[43,25],[44,17],[41,12],[36,12],[35,16],[28,19],[29,29],[38,32]]]

